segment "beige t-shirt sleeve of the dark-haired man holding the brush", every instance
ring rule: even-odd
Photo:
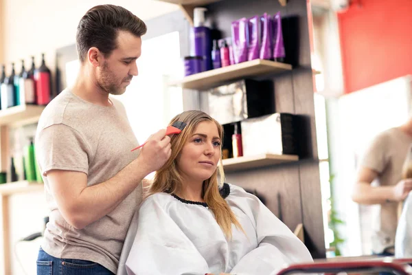
[[[65,124],[53,124],[36,137],[36,158],[43,176],[49,170],[89,171],[91,150],[84,137]]]

